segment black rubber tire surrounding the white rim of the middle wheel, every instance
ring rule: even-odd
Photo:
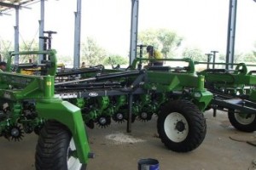
[[[170,114],[177,112],[186,119],[188,122],[189,132],[188,135],[181,142],[174,142],[172,139],[169,139],[166,130],[164,127],[164,123],[166,121],[166,117]],[[197,119],[200,119],[200,130],[198,128],[198,123],[195,124],[195,116],[198,116]],[[186,152],[190,150],[194,150],[198,145],[201,144],[203,139],[205,139],[207,133],[207,125],[206,120],[199,111],[199,109],[189,101],[186,100],[174,100],[169,104],[165,105],[160,112],[158,119],[158,132],[160,134],[160,138],[164,144],[166,144],[167,148],[174,151]],[[201,132],[199,132],[201,131]],[[200,133],[199,136],[198,133]]]

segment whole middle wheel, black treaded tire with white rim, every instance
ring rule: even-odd
[[[157,120],[162,143],[169,150],[195,150],[206,137],[206,119],[196,105],[187,100],[173,100],[164,105]]]

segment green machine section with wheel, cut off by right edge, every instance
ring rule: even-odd
[[[205,77],[205,86],[213,94],[208,108],[212,107],[214,116],[217,110],[227,111],[233,127],[243,132],[253,132],[256,130],[256,71],[248,71],[245,63],[233,65],[235,69],[208,68],[198,73]]]

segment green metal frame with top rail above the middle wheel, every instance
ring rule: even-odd
[[[195,64],[192,59],[148,59],[136,58],[132,62],[131,68],[136,69],[137,65],[143,61],[180,61],[188,63],[183,71],[175,71],[175,67],[170,67],[170,71],[150,71],[145,69],[147,74],[147,82],[143,84],[143,88],[152,90],[157,89],[163,93],[183,91],[184,88],[190,88],[189,98],[193,100],[200,111],[204,111],[212,100],[212,93],[204,88],[205,77],[195,74]],[[172,66],[172,65],[171,65]]]

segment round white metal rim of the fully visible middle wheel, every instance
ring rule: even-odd
[[[189,133],[189,125],[186,118],[177,112],[172,112],[166,116],[164,127],[167,137],[173,142],[182,142]]]

